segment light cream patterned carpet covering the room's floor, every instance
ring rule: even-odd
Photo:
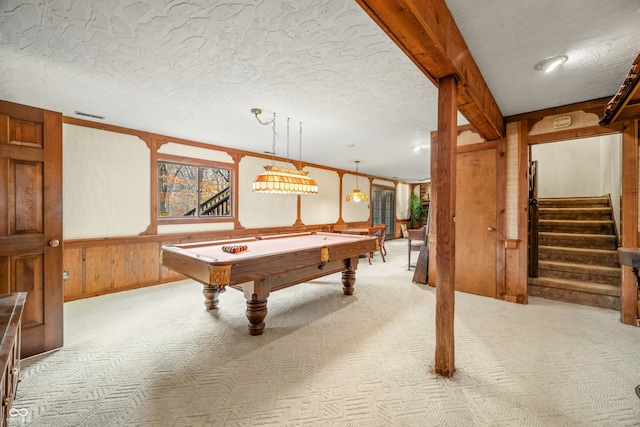
[[[208,312],[190,280],[66,303],[10,425],[640,426],[640,328],[615,311],[457,292],[457,372],[434,374],[435,289],[405,245],[361,261],[353,296],[340,274],[274,292],[258,337],[241,292]]]

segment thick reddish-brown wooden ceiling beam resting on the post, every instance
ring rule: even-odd
[[[504,117],[444,0],[356,0],[433,84],[455,75],[458,109],[487,141]]]

